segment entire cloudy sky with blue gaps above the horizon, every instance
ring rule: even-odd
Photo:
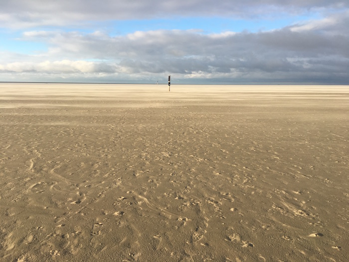
[[[0,6],[0,81],[349,84],[348,0]]]

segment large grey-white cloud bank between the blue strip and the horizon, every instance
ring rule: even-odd
[[[0,63],[0,70],[108,79],[171,73],[184,79],[348,81],[349,35],[328,34],[346,22],[342,17],[319,30],[311,29],[311,21],[302,29],[294,25],[257,33],[153,30],[110,36],[100,31],[27,31],[22,39],[45,41],[47,53],[28,56],[21,63]]]

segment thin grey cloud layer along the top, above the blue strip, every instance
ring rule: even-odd
[[[88,21],[183,16],[267,17],[310,9],[348,8],[347,0],[11,0],[2,1],[0,27],[64,26]]]

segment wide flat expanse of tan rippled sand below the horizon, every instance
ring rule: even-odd
[[[349,261],[349,86],[0,84],[0,261]]]

